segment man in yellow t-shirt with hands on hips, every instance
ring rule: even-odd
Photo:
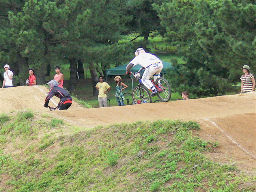
[[[95,88],[99,91],[98,101],[100,107],[108,106],[108,96],[107,93],[110,91],[110,86],[107,82],[104,82],[104,76],[99,76],[99,82],[96,84]]]

